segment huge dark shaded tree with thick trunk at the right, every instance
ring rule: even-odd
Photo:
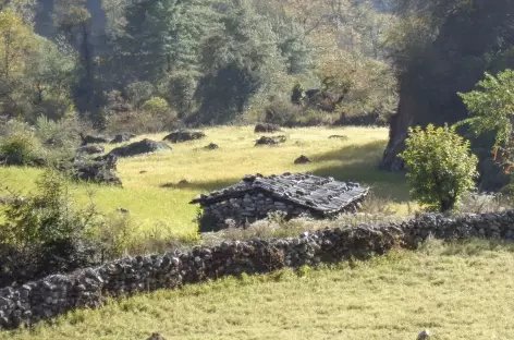
[[[457,93],[473,89],[484,72],[514,66],[513,1],[395,2],[400,22],[387,45],[400,102],[381,162],[387,170],[403,168],[397,154],[405,148],[408,126],[461,121],[468,112]]]

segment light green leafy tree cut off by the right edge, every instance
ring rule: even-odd
[[[505,70],[493,76],[485,73],[479,89],[458,93],[472,118],[460,124],[469,124],[476,134],[495,133],[494,159],[501,159],[509,172],[514,166],[514,71]]]

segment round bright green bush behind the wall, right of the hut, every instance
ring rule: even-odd
[[[406,146],[400,157],[405,160],[411,195],[429,209],[453,209],[475,186],[478,159],[454,129],[431,124],[426,131],[411,129]]]

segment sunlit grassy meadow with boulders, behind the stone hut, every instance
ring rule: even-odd
[[[120,159],[118,173],[122,189],[74,185],[76,199],[86,204],[93,191],[93,201],[102,211],[128,209],[138,232],[183,236],[197,230],[194,222],[197,206],[188,202],[198,194],[234,184],[245,174],[310,171],[371,185],[376,195],[390,199],[400,214],[407,210],[408,191],[403,177],[377,169],[388,141],[388,129],[287,129],[283,132],[287,135],[285,144],[259,147],[254,144],[261,134],[255,134],[253,126],[212,127],[204,132],[206,138],[173,144],[170,153]],[[138,138],[160,141],[164,135]],[[348,138],[329,138],[330,135]],[[220,148],[203,149],[209,143]],[[112,147],[106,145],[106,151]],[[294,165],[299,155],[306,155],[313,162]],[[38,173],[36,169],[0,168],[1,186],[28,192]],[[188,184],[178,185],[183,179]]]

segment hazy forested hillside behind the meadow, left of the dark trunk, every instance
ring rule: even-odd
[[[386,0],[3,0],[0,110],[29,123],[74,118],[136,132],[265,118],[384,123],[396,106],[382,48],[391,8]]]

